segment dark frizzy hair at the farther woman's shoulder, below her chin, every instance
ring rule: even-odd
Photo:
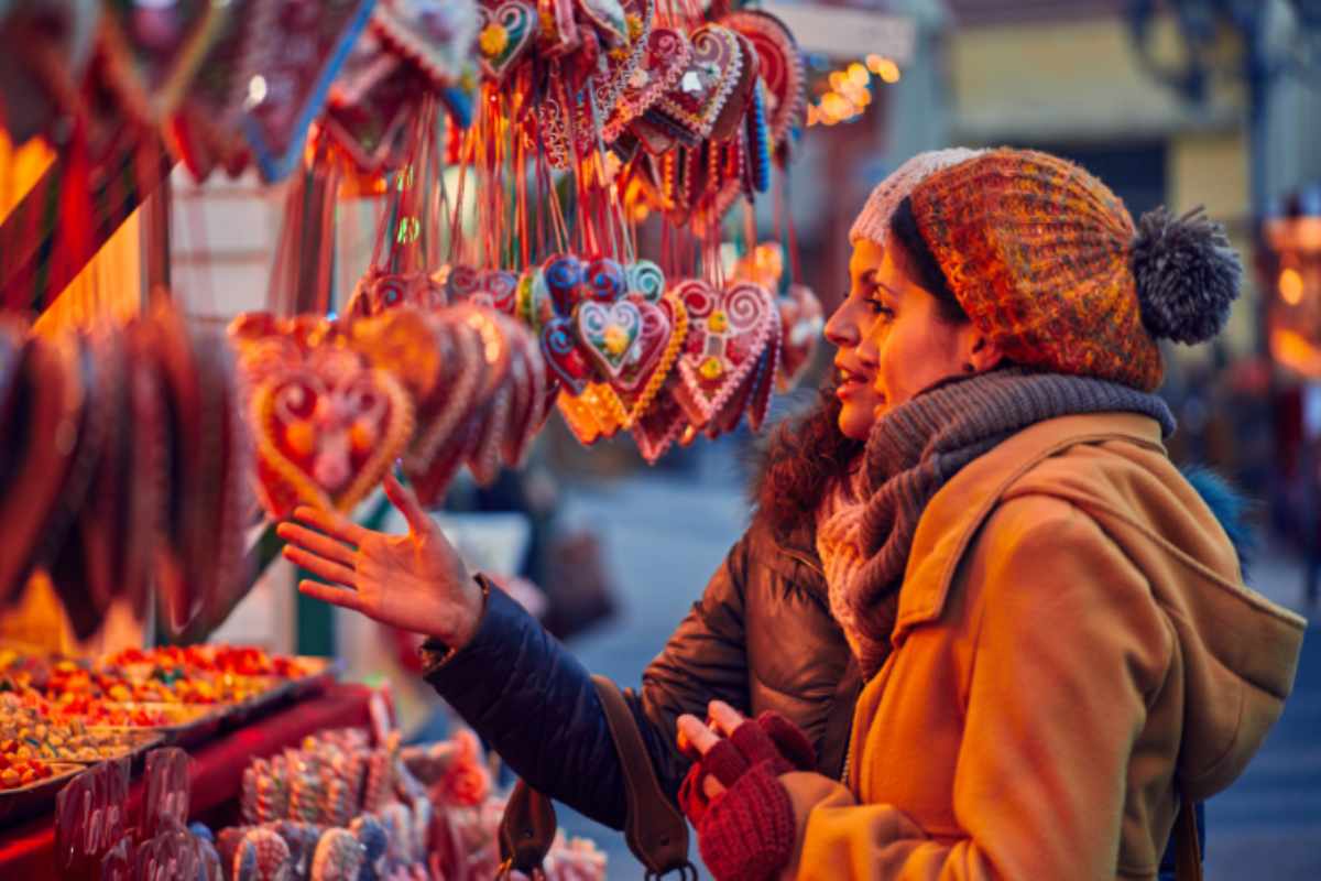
[[[757,516],[765,518],[778,542],[803,524],[815,528],[816,509],[831,483],[848,474],[863,441],[839,431],[840,402],[835,383],[818,390],[815,405],[781,420],[756,450],[760,469],[750,486]]]

